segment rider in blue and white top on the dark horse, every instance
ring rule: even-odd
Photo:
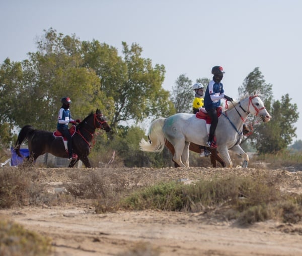
[[[69,106],[71,100],[69,97],[61,98],[62,106],[59,110],[58,115],[58,123],[57,123],[57,130],[62,133],[64,137],[67,139],[67,149],[68,149],[68,159],[69,160],[76,160],[78,158],[77,154],[72,154],[72,137],[68,131],[68,123],[77,124],[80,122],[80,119],[73,120],[71,118]]]

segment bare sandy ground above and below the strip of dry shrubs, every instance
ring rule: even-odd
[[[58,193],[72,182],[71,173],[101,172],[123,177],[132,185],[163,180],[191,182],[200,177],[269,172],[281,179],[280,189],[302,193],[302,172],[213,168],[41,168],[47,189]],[[21,223],[51,237],[53,255],[302,255],[302,224],[277,221],[240,227],[204,212],[118,211],[96,214],[88,202],[65,206],[23,207],[0,210],[2,218]],[[136,252],[135,252],[136,251]],[[136,254],[135,254],[136,253]]]

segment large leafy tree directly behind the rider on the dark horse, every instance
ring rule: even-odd
[[[28,53],[22,61],[20,74],[10,76],[10,119],[22,127],[31,124],[38,129],[54,130],[60,99],[72,100],[73,117],[82,118],[96,108],[104,109],[106,95],[93,69],[83,67],[81,41],[75,36],[57,34],[52,28],[37,41],[38,51]],[[5,63],[8,64],[9,63]]]

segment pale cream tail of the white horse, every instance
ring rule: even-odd
[[[146,142],[144,139],[141,139],[139,143],[139,148],[142,151],[148,152],[162,152],[165,147],[166,138],[163,133],[163,126],[166,118],[155,119],[149,128],[148,139]]]

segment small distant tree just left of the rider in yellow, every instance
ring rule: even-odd
[[[192,101],[194,93],[192,91],[192,80],[185,76],[180,75],[175,81],[175,86],[172,86],[171,100],[177,113],[192,112]]]

